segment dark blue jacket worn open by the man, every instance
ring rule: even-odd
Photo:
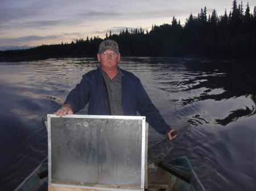
[[[171,128],[166,124],[158,109],[152,104],[141,80],[133,73],[122,70],[122,107],[125,116],[146,116],[146,121],[159,133],[168,133]],[[100,67],[82,76],[82,80],[69,93],[64,104],[70,104],[76,113],[89,103],[88,114],[109,115]]]

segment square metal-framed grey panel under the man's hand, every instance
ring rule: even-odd
[[[145,117],[48,114],[49,186],[144,190]]]

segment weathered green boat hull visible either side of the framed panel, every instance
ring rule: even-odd
[[[147,191],[205,191],[186,156],[169,162],[154,162],[147,168]],[[15,191],[48,190],[48,158],[15,189]]]

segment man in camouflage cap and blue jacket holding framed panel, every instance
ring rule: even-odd
[[[82,80],[69,93],[57,116],[73,114],[89,103],[88,114],[146,116],[146,121],[156,131],[176,137],[173,129],[164,122],[158,109],[152,104],[141,81],[129,71],[118,67],[120,53],[114,40],[104,40],[98,48],[96,70],[82,76]]]

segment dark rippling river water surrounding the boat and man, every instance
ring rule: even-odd
[[[46,114],[97,66],[94,58],[0,62],[1,190],[47,156]],[[179,133],[168,141],[151,129],[149,160],[185,155],[207,190],[256,190],[255,61],[123,57],[119,66]]]

